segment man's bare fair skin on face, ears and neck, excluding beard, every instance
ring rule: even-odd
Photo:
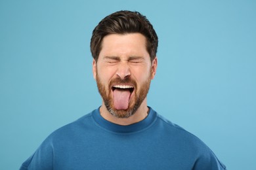
[[[135,103],[135,91],[139,92],[144,88],[145,82],[150,81],[156,75],[157,58],[150,61],[150,55],[146,50],[146,37],[140,33],[112,34],[104,37],[102,41],[102,50],[98,56],[98,61],[93,59],[93,76],[100,80],[100,83],[106,89],[113,99],[113,92],[110,87],[110,81],[115,78],[131,78],[137,84],[134,92],[131,94],[129,103]],[[127,84],[130,85],[130,84]],[[100,114],[110,122],[119,125],[129,125],[143,120],[148,113],[146,97],[139,108],[129,118],[117,118],[110,114],[102,100]]]

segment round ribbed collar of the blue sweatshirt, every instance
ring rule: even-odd
[[[142,131],[143,129],[146,129],[147,127],[149,127],[151,124],[154,123],[154,121],[156,120],[156,112],[149,108],[149,112],[148,112],[148,116],[146,116],[146,118],[144,118],[144,120],[137,122],[135,124],[131,124],[128,126],[121,126],[119,124],[114,124],[112,122],[109,122],[108,120],[104,119],[101,115],[100,115],[100,110],[95,109],[93,110],[93,118],[96,122],[96,124],[98,124],[99,126],[103,127],[104,129],[107,129],[108,131],[113,131],[116,133],[134,133],[137,131]]]

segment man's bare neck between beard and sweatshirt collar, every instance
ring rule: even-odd
[[[146,99],[144,99],[144,101],[141,103],[140,107],[137,109],[135,114],[133,114],[133,116],[130,116],[129,118],[117,118],[116,116],[113,116],[106,109],[104,102],[102,102],[102,106],[100,107],[100,115],[104,119],[106,119],[109,122],[112,122],[114,124],[119,124],[119,125],[123,125],[123,126],[135,124],[137,122],[140,122],[144,118],[146,118],[146,116],[148,115],[148,107],[146,104]]]

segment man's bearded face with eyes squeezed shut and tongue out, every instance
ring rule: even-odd
[[[132,116],[146,99],[157,61],[150,61],[146,37],[140,33],[104,37],[93,73],[108,112],[117,118]]]

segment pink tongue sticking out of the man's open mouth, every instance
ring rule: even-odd
[[[129,90],[114,90],[114,105],[117,110],[126,110],[129,105],[129,97],[131,92]]]

